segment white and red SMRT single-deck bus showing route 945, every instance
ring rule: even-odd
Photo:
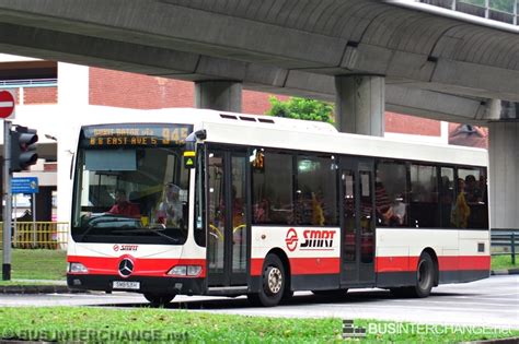
[[[174,121],[166,121],[164,118]],[[426,297],[489,276],[487,153],[332,124],[171,109],[81,127],[69,287],[246,295],[378,287]]]

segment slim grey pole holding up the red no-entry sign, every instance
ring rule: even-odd
[[[3,263],[2,280],[11,280],[11,122],[3,120]]]

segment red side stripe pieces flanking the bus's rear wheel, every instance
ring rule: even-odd
[[[376,272],[416,271],[419,257],[377,257]],[[440,271],[489,270],[489,256],[440,256]]]

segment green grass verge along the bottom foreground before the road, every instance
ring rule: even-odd
[[[410,323],[356,320],[355,324],[368,329],[368,336],[360,340],[361,343],[455,343],[519,336],[519,331],[505,332],[482,328],[461,331],[457,328],[429,327],[427,332],[425,325],[420,325],[423,327],[420,328]],[[408,331],[413,327],[416,330]],[[369,332],[373,329],[377,331]],[[395,332],[391,329],[407,329],[405,331],[407,333],[391,334],[391,332]],[[341,343],[343,342],[342,333],[342,320],[332,318],[241,317],[150,308],[26,307],[0,309],[0,334],[3,339],[12,340],[114,343],[139,341]]]

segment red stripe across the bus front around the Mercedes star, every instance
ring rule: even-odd
[[[199,265],[201,272],[197,277],[206,276],[205,259],[157,259],[135,258],[130,254],[120,257],[86,257],[68,256],[68,262],[82,263],[92,275],[118,275],[119,262],[128,257],[134,261],[132,276],[166,276],[168,271],[175,265]]]

